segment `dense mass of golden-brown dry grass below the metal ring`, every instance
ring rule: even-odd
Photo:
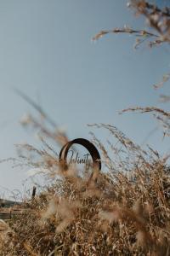
[[[62,177],[4,224],[0,255],[168,255],[170,177],[146,166],[130,179],[101,173],[93,186]]]

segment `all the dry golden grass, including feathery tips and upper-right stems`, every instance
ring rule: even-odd
[[[158,32],[154,45],[161,44],[160,40],[169,43],[170,10],[144,1],[131,4]],[[162,26],[168,29],[163,30],[160,20],[166,19],[168,22]],[[149,37],[149,32],[143,33]],[[62,172],[57,154],[47,142],[50,138],[63,145],[68,138],[41,108],[24,97],[43,122],[29,116],[22,125],[31,125],[38,131],[43,148],[20,146],[20,157],[13,159],[14,164],[45,170],[44,175],[48,181],[53,180],[53,185],[43,188],[32,201],[24,202],[20,215],[6,223],[0,221],[0,255],[170,255],[169,156],[161,157],[150,147],[140,148],[115,126],[94,124],[96,129],[109,131],[116,140],[107,142],[105,148],[92,133],[107,172],[90,182],[79,177],[76,169]],[[153,113],[168,136],[170,113],[159,108],[127,110]]]

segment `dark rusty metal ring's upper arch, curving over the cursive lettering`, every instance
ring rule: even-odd
[[[66,162],[67,154],[73,144],[79,144],[79,145],[82,145],[84,148],[87,148],[89,154],[92,157],[92,160],[94,163],[94,169],[96,171],[101,170],[101,158],[100,158],[98,149],[94,146],[93,143],[90,143],[87,139],[77,138],[66,143],[65,146],[63,146],[63,148],[61,148],[60,150],[59,163],[61,164],[61,166],[65,171],[68,169],[67,162]]]

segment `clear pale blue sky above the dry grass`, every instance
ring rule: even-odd
[[[116,125],[141,144],[156,122],[147,115],[126,113],[132,106],[164,107],[152,84],[170,69],[168,46],[133,49],[129,35],[109,35],[94,43],[102,29],[125,24],[144,27],[123,0],[1,0],[0,1],[0,159],[15,155],[15,143],[33,143],[20,126],[33,113],[14,88],[40,102],[67,128],[70,138],[89,136],[92,123]],[[166,105],[165,108],[168,108]],[[98,132],[105,140],[105,134]],[[157,131],[147,141],[160,152],[169,150]],[[22,189],[25,170],[0,167],[0,189]]]

